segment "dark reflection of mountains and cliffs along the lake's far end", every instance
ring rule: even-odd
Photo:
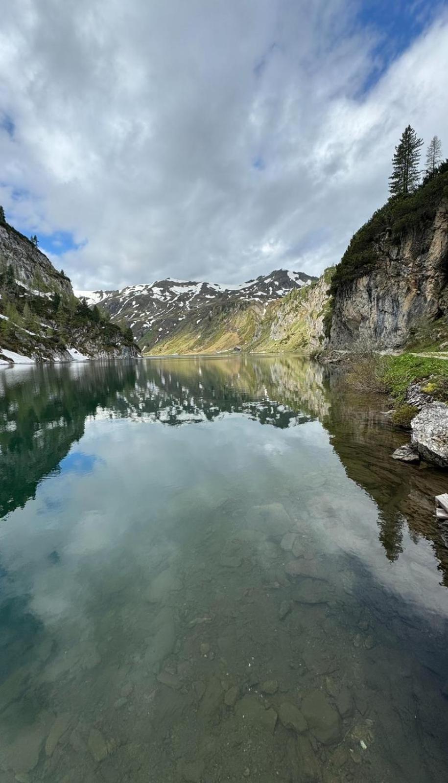
[[[64,458],[88,417],[178,426],[241,414],[276,428],[319,419],[349,478],[378,504],[378,537],[389,561],[399,557],[408,530],[411,539],[432,543],[448,585],[446,540],[432,516],[445,475],[392,460],[406,435],[381,414],[387,400],[348,395],[337,376],[306,359],[235,355],[31,367],[3,371],[0,384],[2,516],[34,497],[45,476],[67,469]],[[87,469],[85,459],[70,455],[71,468]]]

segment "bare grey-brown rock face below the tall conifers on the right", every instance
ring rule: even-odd
[[[422,323],[448,313],[448,201],[431,222],[372,242],[375,262],[334,294],[331,348],[401,348]]]

